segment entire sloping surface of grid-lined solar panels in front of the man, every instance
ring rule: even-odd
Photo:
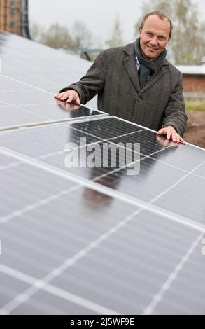
[[[86,62],[0,41],[1,314],[204,314],[205,151],[57,104]],[[138,174],[66,166],[66,145],[104,142],[126,143]]]

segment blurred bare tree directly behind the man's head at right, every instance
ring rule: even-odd
[[[195,3],[192,3],[192,0],[148,0],[141,6],[141,18],[150,10],[165,11],[174,24],[173,36],[168,45],[172,62],[186,65],[202,64],[205,23],[200,22],[199,10]],[[140,22],[136,25],[137,29]]]

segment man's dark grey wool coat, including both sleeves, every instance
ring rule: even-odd
[[[183,100],[182,74],[164,59],[160,69],[141,89],[134,43],[102,51],[73,89],[86,104],[98,94],[98,109],[139,125],[159,130],[172,125],[183,136],[187,116]]]

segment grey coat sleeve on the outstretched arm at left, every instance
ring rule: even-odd
[[[80,81],[63,88],[60,92],[71,89],[76,90],[80,97],[80,103],[86,104],[104,88],[105,80],[106,58],[104,51],[102,51]]]

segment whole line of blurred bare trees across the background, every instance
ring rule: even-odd
[[[163,10],[171,18],[174,29],[169,42],[169,60],[174,64],[202,64],[205,49],[205,22],[199,19],[199,10],[192,0],[146,0],[141,4],[141,18],[134,25],[134,38],[143,15],[150,10]],[[31,25],[31,37],[34,41],[53,48],[78,49],[90,48],[93,35],[84,22],[74,22],[69,30],[58,23],[43,29],[40,25]],[[96,44],[96,42],[95,42]],[[119,18],[113,22],[111,32],[100,48],[125,45]],[[99,43],[97,45],[99,47]]]

